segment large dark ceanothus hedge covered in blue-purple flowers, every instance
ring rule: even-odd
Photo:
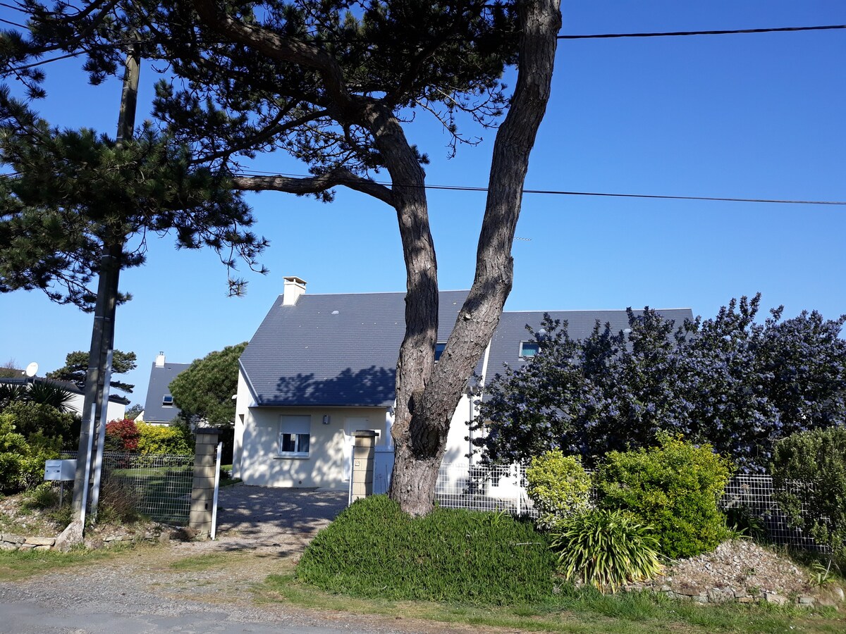
[[[846,418],[846,315],[781,321],[779,308],[756,324],[760,298],[679,327],[648,307],[629,309],[628,335],[597,322],[583,341],[547,315],[541,330],[529,328],[539,353],[487,386],[476,426],[490,433],[476,444],[491,460],[560,448],[592,465],[665,431],[763,472],[778,438]]]

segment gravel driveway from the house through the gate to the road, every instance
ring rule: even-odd
[[[347,493],[221,489],[217,540],[139,548],[102,564],[21,582],[0,583],[0,632],[141,634],[146,632],[467,631],[460,626],[255,603],[250,588],[293,562],[332,521]],[[193,555],[227,554],[219,566],[180,566]],[[187,558],[187,559],[186,559]],[[176,566],[174,566],[176,564]]]

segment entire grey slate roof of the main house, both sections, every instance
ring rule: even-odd
[[[452,331],[467,291],[440,293],[437,340]],[[259,406],[373,406],[394,402],[399,346],[405,333],[405,293],[378,292],[299,297],[283,306],[280,295],[240,358]],[[659,310],[678,325],[690,309]],[[598,319],[619,331],[629,325],[624,310],[550,312],[569,320],[574,338],[591,334]],[[487,379],[503,363],[518,367],[519,342],[528,341],[527,323],[540,327],[543,312],[503,313],[487,364]],[[476,374],[481,374],[480,360]],[[146,412],[145,412],[145,418]]]

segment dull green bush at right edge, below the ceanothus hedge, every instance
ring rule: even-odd
[[[791,525],[846,564],[846,428],[815,429],[777,441],[772,484],[782,489],[776,500]],[[812,514],[802,516],[803,501]]]

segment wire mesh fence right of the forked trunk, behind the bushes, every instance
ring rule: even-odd
[[[438,473],[435,500],[439,506],[447,508],[502,510],[537,517],[525,485],[525,467],[519,464],[445,463]],[[776,493],[768,475],[735,476],[729,481],[719,506],[726,511],[729,522],[745,525],[747,531],[753,533],[750,536],[767,538],[784,546],[823,549],[807,534],[790,527],[788,516],[778,507]],[[591,491],[591,498],[596,500],[596,490]],[[814,515],[814,509],[807,502],[802,504],[802,515]]]

